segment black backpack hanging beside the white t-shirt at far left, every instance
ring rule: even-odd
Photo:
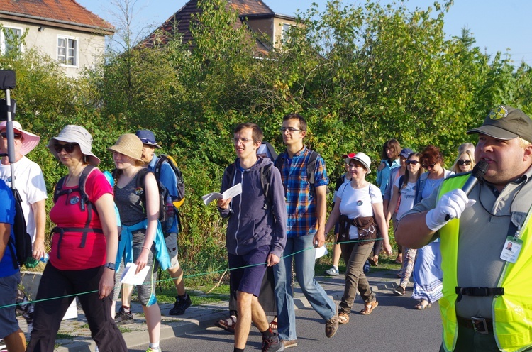
[[[22,212],[22,198],[18,194],[17,189],[11,189],[13,197],[15,198],[15,221],[13,223],[13,234],[15,239],[9,236],[9,250],[11,251],[11,258],[13,258],[13,268],[18,269],[28,258],[32,257],[31,251],[31,236],[26,231],[26,219]]]

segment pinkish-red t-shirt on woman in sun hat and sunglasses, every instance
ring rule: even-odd
[[[76,187],[63,187],[74,189]],[[85,192],[92,203],[92,220],[89,227],[101,229],[100,219],[96,212],[96,201],[104,194],[113,194],[113,188],[107,182],[106,177],[100,170],[94,170],[87,177]],[[63,194],[50,210],[50,220],[58,227],[84,228],[89,212],[81,210],[79,206],[80,195],[78,191]],[[96,268],[106,263],[106,239],[103,233],[87,233],[87,241],[84,248],[81,232],[65,232],[60,244],[61,258],[57,258],[57,245],[59,233],[52,236],[52,250],[50,251],[50,263],[59,270],[82,270]]]

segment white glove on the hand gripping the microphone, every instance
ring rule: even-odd
[[[462,212],[476,202],[475,200],[467,199],[467,195],[462,189],[453,189],[443,194],[443,197],[436,204],[436,208],[428,211],[425,216],[425,223],[431,231],[438,231],[449,220],[460,219]]]

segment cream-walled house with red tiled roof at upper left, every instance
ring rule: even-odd
[[[0,55],[35,48],[69,77],[103,60],[105,37],[115,31],[74,0],[1,0],[0,26]]]

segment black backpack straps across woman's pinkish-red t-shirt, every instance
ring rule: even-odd
[[[59,233],[59,241],[57,241],[57,258],[61,258],[60,255],[60,248],[61,248],[61,240],[63,237],[63,234],[65,232],[81,232],[82,235],[82,243],[79,245],[80,248],[85,247],[85,242],[87,241],[87,233],[104,233],[101,229],[95,229],[89,227],[92,221],[92,212],[96,211],[96,208],[94,205],[89,201],[89,196],[85,192],[85,185],[87,184],[87,178],[93,172],[94,170],[98,170],[98,168],[94,165],[87,165],[83,168],[82,173],[79,175],[79,181],[77,183],[77,187],[72,189],[63,189],[63,186],[65,185],[65,180],[67,179],[66,176],[61,177],[61,179],[57,182],[57,185],[55,185],[54,189],[54,204],[57,203],[57,199],[59,199],[60,196],[63,194],[70,194],[72,192],[79,192],[79,207],[81,211],[88,211],[87,214],[87,221],[85,222],[84,227],[59,227],[55,226],[51,233]],[[96,211],[97,214],[97,211]]]

